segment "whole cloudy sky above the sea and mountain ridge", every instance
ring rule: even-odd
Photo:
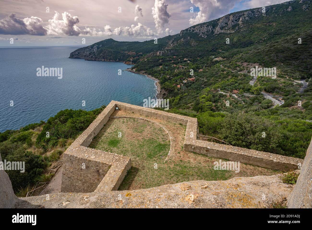
[[[285,0],[0,0],[0,46],[145,41]],[[85,42],[85,43],[83,43]]]

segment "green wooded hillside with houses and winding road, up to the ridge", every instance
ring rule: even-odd
[[[267,6],[265,12],[244,10],[159,38],[157,44],[107,39],[70,58],[134,63],[134,71],[160,80],[169,112],[197,117],[202,134],[304,158],[312,136],[312,89],[305,83],[300,92],[300,80],[312,77],[311,10],[305,0]],[[256,66],[275,67],[277,77],[258,76],[252,85],[250,71]],[[232,95],[233,90],[239,93]],[[278,98],[280,106],[263,93]],[[255,124],[258,128],[248,128]],[[270,141],[260,138],[261,130]]]

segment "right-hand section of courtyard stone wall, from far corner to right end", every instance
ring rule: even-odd
[[[111,103],[116,104],[120,110],[186,125],[184,141],[185,151],[200,153],[215,158],[229,159],[231,161],[239,161],[241,163],[285,172],[290,169],[298,169],[299,165],[303,163],[303,160],[299,158],[286,157],[273,153],[199,140],[196,118],[190,118],[174,113],[167,113],[152,108],[144,108],[116,101],[111,101]]]

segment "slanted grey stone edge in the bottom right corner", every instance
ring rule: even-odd
[[[305,155],[297,183],[288,198],[288,208],[312,208],[312,140]]]

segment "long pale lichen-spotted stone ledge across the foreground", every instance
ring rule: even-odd
[[[256,208],[289,197],[278,175],[191,181],[133,191],[55,193],[21,198],[18,208]]]

